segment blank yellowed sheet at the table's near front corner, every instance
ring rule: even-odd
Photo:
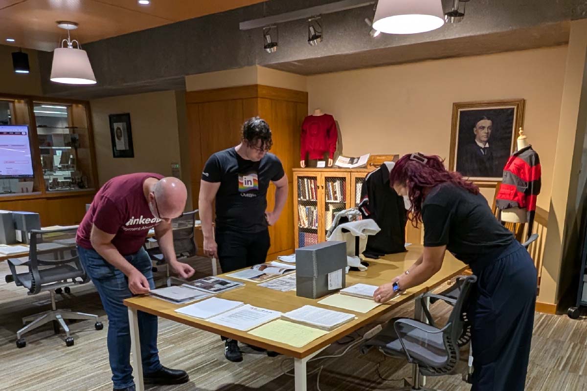
[[[301,348],[314,339],[328,334],[328,331],[277,319],[249,331],[249,334]]]

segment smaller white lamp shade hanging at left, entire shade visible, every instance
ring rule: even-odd
[[[65,84],[96,84],[96,76],[86,51],[70,47],[58,47],[53,50],[51,81]]]

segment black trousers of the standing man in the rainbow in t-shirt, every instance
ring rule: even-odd
[[[232,230],[217,230],[218,261],[222,273],[264,263],[271,246],[269,230],[257,233],[242,233]],[[225,341],[225,336],[221,336]]]

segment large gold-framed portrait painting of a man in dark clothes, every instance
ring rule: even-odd
[[[524,99],[453,104],[449,167],[471,181],[501,181],[524,121]]]

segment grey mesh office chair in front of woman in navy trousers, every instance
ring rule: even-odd
[[[443,328],[416,319],[394,318],[382,331],[361,345],[362,353],[375,346],[384,355],[406,358],[409,363],[416,365],[414,385],[396,389],[397,391],[434,391],[420,387],[420,375],[443,376],[454,371],[459,359],[459,346],[463,342],[463,331],[468,323],[468,298],[476,281],[475,276],[463,277],[460,295],[456,300],[432,293],[426,293],[419,298],[426,300],[428,297],[436,297],[452,302],[453,311]],[[429,317],[429,314],[426,315]]]

